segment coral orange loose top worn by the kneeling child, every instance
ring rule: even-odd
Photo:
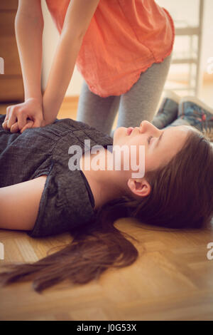
[[[72,0],[46,0],[59,33]],[[175,28],[154,0],[100,0],[84,35],[76,66],[98,96],[120,96],[141,72],[173,50]]]

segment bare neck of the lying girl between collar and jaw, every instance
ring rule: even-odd
[[[98,155],[96,162],[99,170],[94,170],[94,158]],[[111,163],[113,170],[107,170]],[[115,170],[112,165],[112,153],[104,149],[100,153],[91,154],[86,152],[80,159],[80,168],[84,173],[94,196],[94,210],[102,207],[104,203],[116,197],[124,195],[124,187],[121,189],[121,171]]]

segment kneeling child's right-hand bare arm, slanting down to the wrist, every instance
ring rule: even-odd
[[[99,0],[72,0],[67,8],[60,41],[43,95],[45,124],[53,123],[72,78],[85,32]]]

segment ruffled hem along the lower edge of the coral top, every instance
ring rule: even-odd
[[[173,51],[173,46],[174,46],[174,42],[175,42],[175,26],[174,26],[173,19],[171,18],[169,12],[168,12],[165,8],[163,8],[163,7],[162,7],[162,9],[163,9],[163,10],[165,11],[165,13],[168,15],[168,19],[170,20],[170,24],[171,24],[171,26],[172,26],[172,31],[173,31],[173,39],[172,39],[172,43],[171,43],[171,46],[170,46],[168,52],[165,53],[165,55],[164,55],[163,57],[158,58],[158,59],[155,59],[154,61],[152,61],[151,63],[149,63],[148,65],[146,65],[144,68],[140,69],[140,70],[138,71],[138,73],[136,73],[136,76],[134,76],[134,78],[130,81],[129,86],[128,86],[127,88],[125,88],[124,90],[121,90],[121,91],[119,91],[119,92],[116,93],[116,94],[113,93],[113,92],[104,94],[104,93],[99,93],[99,91],[97,91],[97,89],[96,89],[94,86],[89,85],[89,84],[87,83],[87,85],[88,85],[88,87],[89,87],[89,90],[92,91],[92,93],[94,93],[94,94],[96,94],[97,96],[100,96],[100,97],[102,97],[102,98],[107,98],[107,97],[109,97],[109,96],[121,96],[122,94],[127,93],[128,91],[131,90],[132,86],[133,86],[133,85],[138,81],[138,79],[140,78],[141,73],[143,73],[143,72],[145,72],[146,70],[148,70],[148,68],[151,68],[151,66],[152,66],[154,63],[162,63],[162,62],[165,60],[165,58],[167,58],[168,56],[170,56],[170,54],[171,54],[172,51]]]

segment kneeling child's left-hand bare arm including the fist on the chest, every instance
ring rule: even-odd
[[[6,118],[2,127],[5,130],[11,130],[11,133],[16,133],[24,126],[25,128],[40,127],[43,124],[40,87],[43,25],[40,0],[19,0],[15,32],[25,101],[6,108]]]

